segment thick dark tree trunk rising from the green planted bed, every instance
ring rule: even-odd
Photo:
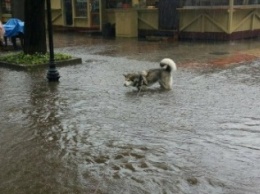
[[[25,0],[24,8],[24,53],[45,54],[47,52],[45,0]]]

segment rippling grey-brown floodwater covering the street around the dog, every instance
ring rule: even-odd
[[[59,83],[0,68],[0,193],[259,193],[259,61],[184,60],[258,43],[57,37],[57,52],[83,61],[58,68]],[[172,91],[123,87],[123,73],[166,56]]]

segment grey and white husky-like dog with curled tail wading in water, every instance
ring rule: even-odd
[[[162,89],[172,89],[172,72],[177,70],[176,64],[172,59],[165,58],[160,62],[161,68],[149,69],[140,73],[124,74],[124,86],[133,86],[141,90],[143,86],[151,86],[158,82]]]

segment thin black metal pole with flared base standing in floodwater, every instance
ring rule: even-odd
[[[46,0],[47,6],[47,25],[48,25],[48,37],[49,37],[49,50],[50,50],[50,63],[47,72],[47,79],[49,81],[59,81],[60,75],[56,69],[56,64],[54,61],[54,50],[53,50],[53,32],[52,32],[52,18],[51,18],[51,2]]]

